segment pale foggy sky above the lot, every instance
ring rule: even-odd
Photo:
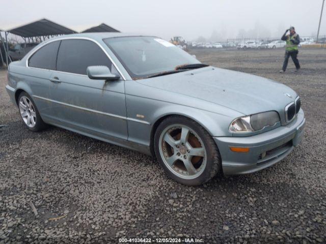
[[[83,31],[106,23],[121,32],[169,40],[279,37],[290,25],[300,36],[317,34],[322,0],[11,0],[1,1],[0,29],[41,18]],[[326,35],[326,6],[320,35]]]

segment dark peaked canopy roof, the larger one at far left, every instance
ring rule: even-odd
[[[52,22],[48,19],[40,19],[35,22],[10,29],[7,32],[23,38],[67,35],[75,33],[72,29]]]

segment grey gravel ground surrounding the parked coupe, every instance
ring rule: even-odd
[[[25,129],[2,70],[0,243],[118,243],[119,237],[326,243],[326,50],[301,50],[298,74],[291,61],[287,73],[278,73],[284,50],[191,53],[295,89],[307,118],[302,145],[263,171],[186,187],[135,151],[58,128]]]

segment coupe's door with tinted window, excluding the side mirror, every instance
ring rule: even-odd
[[[50,76],[53,124],[111,141],[127,140],[124,80],[91,80],[88,66],[112,63],[94,42],[62,40],[57,71]],[[116,140],[117,139],[117,140]]]

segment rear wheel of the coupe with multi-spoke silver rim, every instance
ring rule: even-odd
[[[42,131],[47,125],[42,120],[31,96],[21,92],[18,97],[18,109],[24,125],[31,131]],[[30,118],[29,118],[30,117]]]

